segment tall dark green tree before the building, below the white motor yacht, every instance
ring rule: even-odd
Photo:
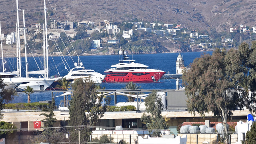
[[[94,82],[78,79],[72,84],[73,96],[70,100],[69,126],[94,126],[103,116],[105,108],[100,107],[102,96],[98,97]],[[70,128],[70,140],[78,140],[78,132]],[[80,130],[81,141],[88,142],[92,133],[91,128]]]

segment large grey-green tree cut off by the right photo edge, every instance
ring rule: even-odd
[[[249,44],[243,42],[238,47],[238,50],[231,49],[225,57],[226,73],[229,76],[230,84],[235,90],[238,90],[239,95],[243,99],[240,104],[246,106],[250,114],[255,112],[256,102],[256,42],[252,43],[252,48]],[[252,94],[250,94],[250,91]]]

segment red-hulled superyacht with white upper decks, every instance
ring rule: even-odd
[[[104,72],[108,73],[105,82],[157,82],[165,74],[162,70],[149,69],[148,66],[135,63],[126,55],[126,51],[119,51],[119,63],[112,65]]]

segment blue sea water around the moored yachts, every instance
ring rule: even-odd
[[[184,65],[189,67],[190,63],[193,62],[195,58],[200,57],[202,54],[211,54],[212,52],[183,52]],[[148,65],[149,68],[163,70],[166,73],[176,74],[176,59],[179,53],[164,53],[164,54],[128,54],[130,59],[136,60],[136,62]],[[13,71],[16,67],[16,58],[5,58],[7,63],[5,64],[6,72]],[[29,70],[38,70],[37,65],[42,69],[42,57],[35,58],[37,63],[34,61],[33,57],[28,57]],[[72,57],[65,56],[66,62],[62,62],[61,56],[53,56],[49,58],[49,70],[50,76],[55,77],[56,75],[65,76],[68,74],[68,70],[74,68],[74,62],[78,62],[77,56]],[[119,55],[108,55],[108,56],[80,56],[82,63],[86,69],[92,69],[96,72],[104,74],[104,71],[113,64],[117,64],[119,61]],[[74,62],[73,62],[74,61]],[[2,64],[1,64],[2,66]],[[23,76],[25,76],[25,58],[22,58],[23,66]],[[2,71],[2,67],[0,68]],[[37,77],[36,75],[34,77]],[[180,80],[180,83],[182,80]],[[125,87],[126,83],[102,83],[102,87],[106,89],[121,89]],[[141,89],[176,89],[176,80],[160,80],[160,82],[153,83],[137,83],[138,86],[141,86]],[[54,92],[55,96],[58,96],[62,93]],[[38,102],[42,100],[51,100],[51,91],[42,91],[34,92],[31,94],[31,102]],[[57,97],[56,105],[60,104],[60,100],[63,97]],[[114,104],[114,98],[112,98],[111,104]],[[118,96],[117,102],[125,102],[124,96]],[[18,92],[17,96],[14,96],[12,103],[17,102],[27,102],[27,95],[24,92]]]

